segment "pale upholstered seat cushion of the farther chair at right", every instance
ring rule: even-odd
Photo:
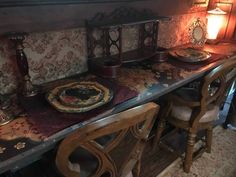
[[[171,116],[179,120],[189,121],[192,114],[192,109],[187,106],[173,105],[171,110]],[[199,122],[206,123],[211,122],[219,117],[219,107],[211,105],[206,113],[202,116]]]

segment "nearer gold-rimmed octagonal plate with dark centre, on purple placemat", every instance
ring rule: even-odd
[[[73,82],[51,90],[46,98],[60,112],[81,113],[108,103],[113,92],[97,82]]]

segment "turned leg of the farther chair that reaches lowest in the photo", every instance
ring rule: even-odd
[[[193,148],[196,141],[196,133],[189,132],[184,159],[184,172],[189,173],[193,161]]]

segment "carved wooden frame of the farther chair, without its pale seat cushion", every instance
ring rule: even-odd
[[[175,115],[169,114],[166,116],[167,120],[178,128],[185,129],[188,132],[188,140],[187,140],[187,147],[186,147],[186,155],[184,160],[184,171],[189,172],[190,167],[192,164],[192,160],[194,156],[198,156],[199,153],[194,154],[194,144],[195,144],[195,137],[197,132],[200,129],[206,130],[206,140],[205,140],[205,147],[203,150],[207,152],[211,151],[211,141],[212,141],[212,127],[214,123],[214,119],[210,119],[205,122],[201,122],[200,120],[203,116],[212,111],[209,110],[211,107],[218,107],[220,108],[223,100],[225,99],[226,93],[232,83],[236,79],[236,60],[231,59],[224,64],[216,67],[210,73],[208,73],[204,78],[202,78],[202,82],[199,84],[199,98],[193,100],[192,98],[185,98],[181,97],[176,94],[171,94],[168,96],[168,102],[170,102],[169,108],[172,109],[172,105],[181,106],[180,109],[187,109],[191,110],[191,115],[189,120],[180,120]],[[213,88],[212,88],[213,87]],[[197,94],[197,93],[196,93]],[[190,95],[192,97],[192,95]],[[183,110],[184,111],[184,110]],[[170,111],[171,113],[171,111]],[[217,118],[217,117],[216,117]],[[216,119],[215,118],[215,119]],[[164,118],[160,119],[160,125],[163,125],[165,121]],[[160,140],[160,134],[163,131],[163,127],[159,126],[155,143],[158,143]],[[155,145],[156,146],[156,145]],[[202,151],[199,151],[202,152]],[[195,156],[195,157],[196,157]]]

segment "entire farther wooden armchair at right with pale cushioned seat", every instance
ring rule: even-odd
[[[200,89],[182,88],[167,96],[168,107],[159,119],[154,148],[160,142],[165,120],[188,133],[184,171],[189,172],[193,160],[196,134],[206,130],[204,151],[211,152],[212,127],[219,116],[222,101],[236,77],[236,60],[231,59],[216,67],[202,79]],[[203,151],[201,151],[203,152]],[[196,154],[199,156],[199,154]]]

